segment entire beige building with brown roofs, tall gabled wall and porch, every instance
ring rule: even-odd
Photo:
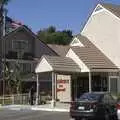
[[[59,57],[43,56],[35,71],[39,77],[51,74],[52,100],[70,102],[88,91],[120,92],[119,31],[120,6],[98,4],[69,46],[49,45]]]

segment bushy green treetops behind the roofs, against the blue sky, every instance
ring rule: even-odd
[[[38,38],[47,44],[67,45],[71,42],[72,31],[56,31],[54,26],[38,31]]]

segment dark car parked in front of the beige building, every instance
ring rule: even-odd
[[[70,117],[75,120],[117,120],[116,100],[106,92],[84,93],[71,103]]]

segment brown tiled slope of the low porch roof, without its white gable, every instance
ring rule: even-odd
[[[80,72],[79,66],[71,59],[67,57],[58,56],[43,56],[47,62],[51,65],[53,71],[56,72]],[[41,59],[41,60],[42,60]],[[39,64],[41,61],[39,62]]]

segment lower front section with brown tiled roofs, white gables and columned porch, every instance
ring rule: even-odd
[[[53,46],[56,52],[60,50],[61,46]],[[118,92],[116,82],[110,80],[119,77],[117,66],[82,35],[73,38],[65,56],[43,56],[35,71],[39,76],[39,91],[50,94],[53,101],[70,102],[83,92]],[[41,79],[48,74],[49,80]]]

